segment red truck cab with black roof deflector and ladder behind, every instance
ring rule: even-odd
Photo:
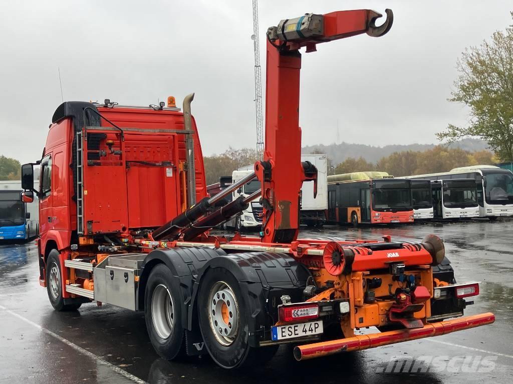
[[[185,130],[184,114],[173,105],[61,104],[49,127],[40,178],[42,285],[52,249],[71,251],[71,244],[94,237],[119,243],[207,196],[196,123],[192,118],[191,131]],[[193,196],[187,181],[195,184]]]

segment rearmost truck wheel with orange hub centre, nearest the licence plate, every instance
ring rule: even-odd
[[[248,311],[239,282],[228,270],[207,272],[198,293],[200,329],[210,356],[223,368],[239,368],[245,361],[263,364],[278,350],[248,345]]]

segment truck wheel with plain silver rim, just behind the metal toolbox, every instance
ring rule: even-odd
[[[144,317],[151,344],[168,360],[185,353],[179,289],[169,268],[159,264],[151,270],[144,292]]]

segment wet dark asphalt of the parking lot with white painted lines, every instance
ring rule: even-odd
[[[458,282],[482,281],[465,314],[494,312],[495,324],[303,362],[282,346],[265,367],[243,371],[225,371],[208,357],[159,358],[142,313],[95,303],[53,311],[38,284],[35,244],[0,245],[0,383],[513,382],[513,220],[327,226],[305,228],[301,237],[418,241],[428,233],[444,239]]]

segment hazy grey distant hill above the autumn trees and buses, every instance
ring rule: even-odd
[[[340,144],[318,144],[304,146],[302,153],[325,153],[326,155],[328,155],[328,158],[331,160],[332,164],[339,164],[348,157],[363,157],[365,160],[369,162],[376,163],[382,157],[389,156],[394,152],[427,151],[434,146],[436,146],[436,144],[385,145],[380,147],[365,144],[350,144],[342,142]],[[461,148],[465,151],[475,152],[488,149],[488,144],[486,143],[486,141],[480,139],[462,139],[454,144],[449,145],[449,147]]]

